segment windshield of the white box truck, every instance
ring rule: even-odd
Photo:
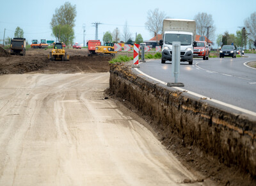
[[[180,45],[191,45],[191,35],[180,35],[180,34],[166,34],[164,36],[164,43],[172,45],[172,42],[180,42]]]

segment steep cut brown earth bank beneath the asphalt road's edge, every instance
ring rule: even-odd
[[[254,134],[255,121],[147,82],[132,74],[130,66],[111,65],[111,97],[145,118],[164,146],[204,179],[256,185],[255,138],[248,135]]]

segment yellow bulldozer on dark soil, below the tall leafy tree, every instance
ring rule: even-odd
[[[69,61],[69,55],[63,49],[63,43],[52,43],[53,49],[48,54],[49,60]]]

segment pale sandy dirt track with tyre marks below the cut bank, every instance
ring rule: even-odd
[[[0,76],[0,185],[196,180],[108,86],[108,72]]]

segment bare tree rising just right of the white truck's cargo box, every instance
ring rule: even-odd
[[[205,12],[195,15],[194,20],[196,22],[196,35],[206,36],[209,40],[214,39],[215,26],[212,20],[212,15]],[[207,36],[207,29],[209,29],[209,35]]]

